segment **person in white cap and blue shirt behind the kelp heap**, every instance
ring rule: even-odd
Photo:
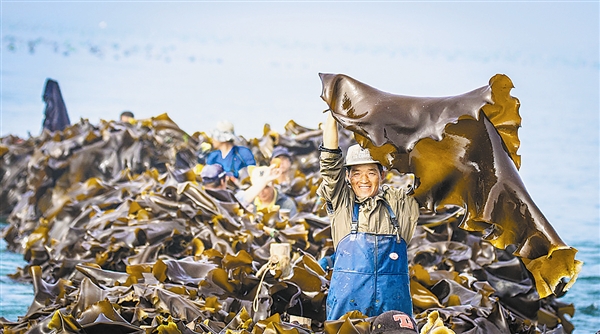
[[[218,122],[216,129],[211,131],[210,137],[215,150],[206,156],[207,165],[219,164],[229,176],[236,179],[239,178],[242,169],[256,165],[254,154],[249,148],[234,144],[237,137],[231,122]]]

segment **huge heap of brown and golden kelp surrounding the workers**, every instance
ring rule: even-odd
[[[324,320],[330,273],[317,260],[332,241],[315,195],[320,131],[290,121],[243,140],[261,164],[274,145],[295,154],[297,216],[208,195],[194,173],[207,138],[167,115],[2,138],[3,237],[28,262],[12,278],[34,288],[27,314],[0,318],[3,332],[369,333],[373,319],[358,312]],[[514,249],[460,229],[464,216],[423,209],[409,245],[421,332],[572,332],[572,305],[539,298]],[[291,244],[291,272],[271,258],[274,243]]]

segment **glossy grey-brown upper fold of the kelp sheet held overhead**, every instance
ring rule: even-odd
[[[346,129],[367,137],[377,147],[392,143],[408,152],[423,138],[440,140],[446,125],[479,116],[491,103],[491,88],[483,86],[450,97],[412,97],[386,93],[343,74],[320,74],[321,98]]]

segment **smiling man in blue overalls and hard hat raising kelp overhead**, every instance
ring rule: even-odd
[[[321,183],[335,248],[327,320],[358,310],[367,316],[399,310],[412,315],[406,244],[419,206],[407,189],[382,186],[385,171],[367,149],[338,146],[338,124],[329,116],[319,148]]]

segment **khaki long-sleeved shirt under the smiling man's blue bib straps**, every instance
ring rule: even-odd
[[[321,152],[321,176],[323,182],[317,190],[328,205],[331,221],[333,245],[337,247],[340,240],[350,233],[352,210],[357,201],[354,191],[345,181],[346,171],[342,154]],[[419,204],[406,194],[404,189],[384,185],[374,197],[358,201],[361,206],[358,214],[358,231],[373,234],[393,234],[390,215],[382,203],[385,199],[398,217],[399,235],[408,244],[412,239],[419,218]]]

